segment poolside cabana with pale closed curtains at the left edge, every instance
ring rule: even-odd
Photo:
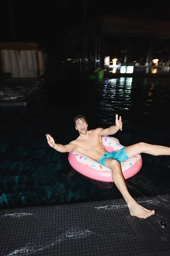
[[[0,42],[0,71],[11,78],[40,79],[45,73],[44,50],[35,43]]]

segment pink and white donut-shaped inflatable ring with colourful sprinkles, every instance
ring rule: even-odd
[[[124,146],[120,144],[119,140],[114,137],[103,136],[103,145],[108,152],[119,151]],[[77,150],[73,150],[68,154],[68,161],[70,165],[82,175],[85,175],[91,179],[113,182],[111,176],[111,169],[102,166],[100,163],[88,157],[85,154],[80,153]],[[134,175],[142,167],[142,157],[141,154],[137,154],[134,157],[130,157],[125,161],[121,162],[122,174],[125,179],[128,179]]]

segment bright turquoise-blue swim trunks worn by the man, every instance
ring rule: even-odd
[[[97,162],[105,166],[105,162],[108,158],[116,159],[119,161],[119,163],[121,163],[122,161],[125,161],[129,157],[127,157],[125,147],[124,147],[124,148],[121,148],[119,151],[111,151],[110,153],[109,152],[105,153]]]

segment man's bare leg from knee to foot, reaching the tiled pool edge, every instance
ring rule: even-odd
[[[107,159],[105,166],[112,170],[112,179],[116,187],[121,192],[123,198],[125,199],[127,206],[130,211],[130,215],[136,216],[138,218],[148,218],[151,215],[155,214],[154,210],[148,210],[138,204],[133,197],[129,194],[125,179],[122,175],[122,169],[120,163],[115,159]]]

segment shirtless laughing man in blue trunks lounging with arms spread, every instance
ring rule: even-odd
[[[79,152],[88,155],[94,160],[98,161],[102,165],[112,170],[112,179],[116,187],[121,192],[125,199],[131,216],[138,218],[148,218],[155,214],[154,210],[148,210],[138,204],[127,190],[125,179],[122,175],[122,169],[120,162],[126,160],[129,157],[133,157],[140,153],[151,154],[155,156],[170,155],[170,148],[161,145],[151,145],[147,143],[137,143],[120,149],[118,152],[113,151],[108,153],[102,143],[102,136],[109,136],[116,134],[117,131],[122,131],[122,118],[116,114],[116,125],[112,125],[109,128],[96,128],[88,131],[88,124],[85,116],[78,115],[74,118],[74,125],[79,132],[79,137],[76,140],[71,141],[68,145],[61,145],[55,143],[54,139],[46,134],[48,144],[55,150],[65,153],[72,150],[78,150]]]

